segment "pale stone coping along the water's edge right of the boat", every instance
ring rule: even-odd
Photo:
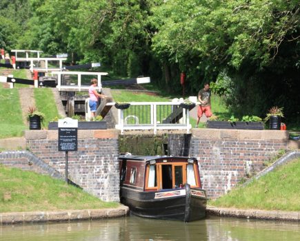
[[[268,211],[207,207],[206,212],[211,215],[224,217],[300,222],[300,211]]]

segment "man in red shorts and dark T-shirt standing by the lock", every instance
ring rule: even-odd
[[[198,113],[197,113],[198,118],[197,118],[196,127],[198,127],[200,118],[203,114],[206,114],[207,118],[210,118],[210,116],[212,116],[212,109],[210,107],[210,96],[211,96],[210,84],[205,83],[204,88],[201,89],[198,93],[198,100],[201,103],[201,105],[198,106]]]

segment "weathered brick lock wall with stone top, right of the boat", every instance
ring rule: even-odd
[[[183,136],[170,135],[175,153]],[[177,147],[176,147],[177,143]],[[217,198],[248,175],[263,169],[263,162],[279,149],[286,149],[288,132],[229,129],[193,129],[188,155],[199,159],[203,188]],[[188,156],[187,155],[187,156]]]

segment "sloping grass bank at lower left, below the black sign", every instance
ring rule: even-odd
[[[0,212],[118,207],[62,180],[0,165]]]

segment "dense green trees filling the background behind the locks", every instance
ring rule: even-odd
[[[0,47],[68,52],[72,63],[150,75],[173,94],[186,72],[186,92],[210,82],[236,116],[262,116],[277,104],[295,122],[299,11],[296,0],[3,0]]]

